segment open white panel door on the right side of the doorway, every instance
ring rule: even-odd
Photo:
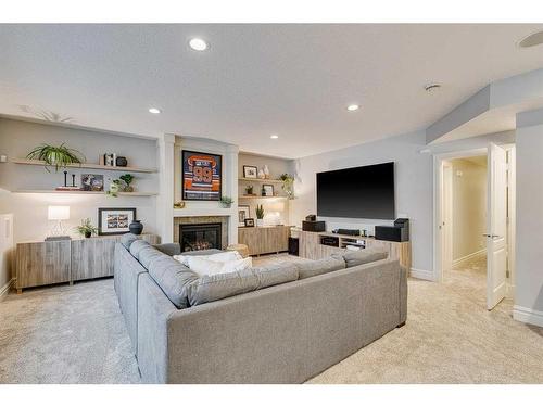
[[[507,272],[507,154],[489,145],[487,212],[487,308],[505,297]]]

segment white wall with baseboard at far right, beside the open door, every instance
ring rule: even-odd
[[[517,115],[515,319],[543,326],[543,110]]]

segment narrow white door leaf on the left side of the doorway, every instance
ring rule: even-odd
[[[443,243],[442,270],[451,271],[453,268],[453,165],[443,162],[443,199],[441,200],[441,238]]]

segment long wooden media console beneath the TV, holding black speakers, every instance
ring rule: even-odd
[[[300,257],[319,259],[342,251],[346,245],[355,245],[359,247],[382,250],[389,253],[389,258],[399,259],[402,266],[406,267],[407,270],[411,269],[409,242],[389,242],[367,237],[354,237],[329,232],[307,232],[302,230],[298,230],[296,234],[300,239]],[[323,237],[336,238],[338,245],[331,246],[321,244],[320,240]],[[357,243],[357,241],[362,243]]]

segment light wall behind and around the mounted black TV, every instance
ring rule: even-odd
[[[426,135],[417,131],[374,142],[354,145],[328,153],[296,160],[295,193],[291,203],[290,220],[301,225],[302,219],[316,213],[315,174],[318,171],[395,162],[396,216],[411,219],[413,268],[421,275],[433,270],[433,157],[432,153],[455,152],[485,148],[489,141],[509,143],[515,133],[507,131],[465,140],[426,145]],[[428,150],[430,153],[420,153]],[[384,225],[378,219],[324,218],[327,229],[337,227],[368,228]],[[427,271],[427,272],[426,272]]]

